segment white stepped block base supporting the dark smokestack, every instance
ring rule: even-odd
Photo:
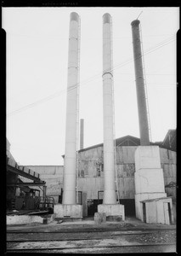
[[[136,217],[143,221],[144,215],[141,197],[144,196],[154,199],[166,196],[164,195],[164,178],[158,146],[139,146],[137,148],[135,151],[134,181]],[[153,218],[155,217],[153,216]]]

